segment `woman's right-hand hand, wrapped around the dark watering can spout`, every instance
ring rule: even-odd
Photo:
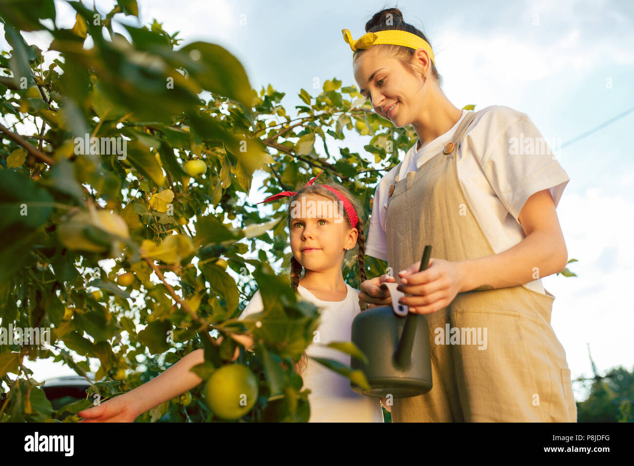
[[[419,268],[420,261],[399,272],[401,284],[396,289],[411,295],[399,302],[415,314],[435,313],[449,306],[465,283],[461,262],[430,258],[426,270],[419,272]]]

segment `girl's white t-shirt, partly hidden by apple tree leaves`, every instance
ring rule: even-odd
[[[348,289],[344,301],[321,301],[306,288],[299,285],[297,290],[306,301],[321,310],[321,321],[317,328],[319,343],[311,342],[306,348],[308,356],[335,359],[346,366],[350,356],[335,349],[322,347],[330,342],[350,341],[351,325],[359,309],[359,290],[346,283]],[[247,307],[240,314],[244,318],[264,309],[260,290],[253,295]],[[308,422],[384,422],[380,400],[354,392],[350,380],[308,358],[306,371],[302,374],[304,387],[311,390],[308,401],[311,415]]]

